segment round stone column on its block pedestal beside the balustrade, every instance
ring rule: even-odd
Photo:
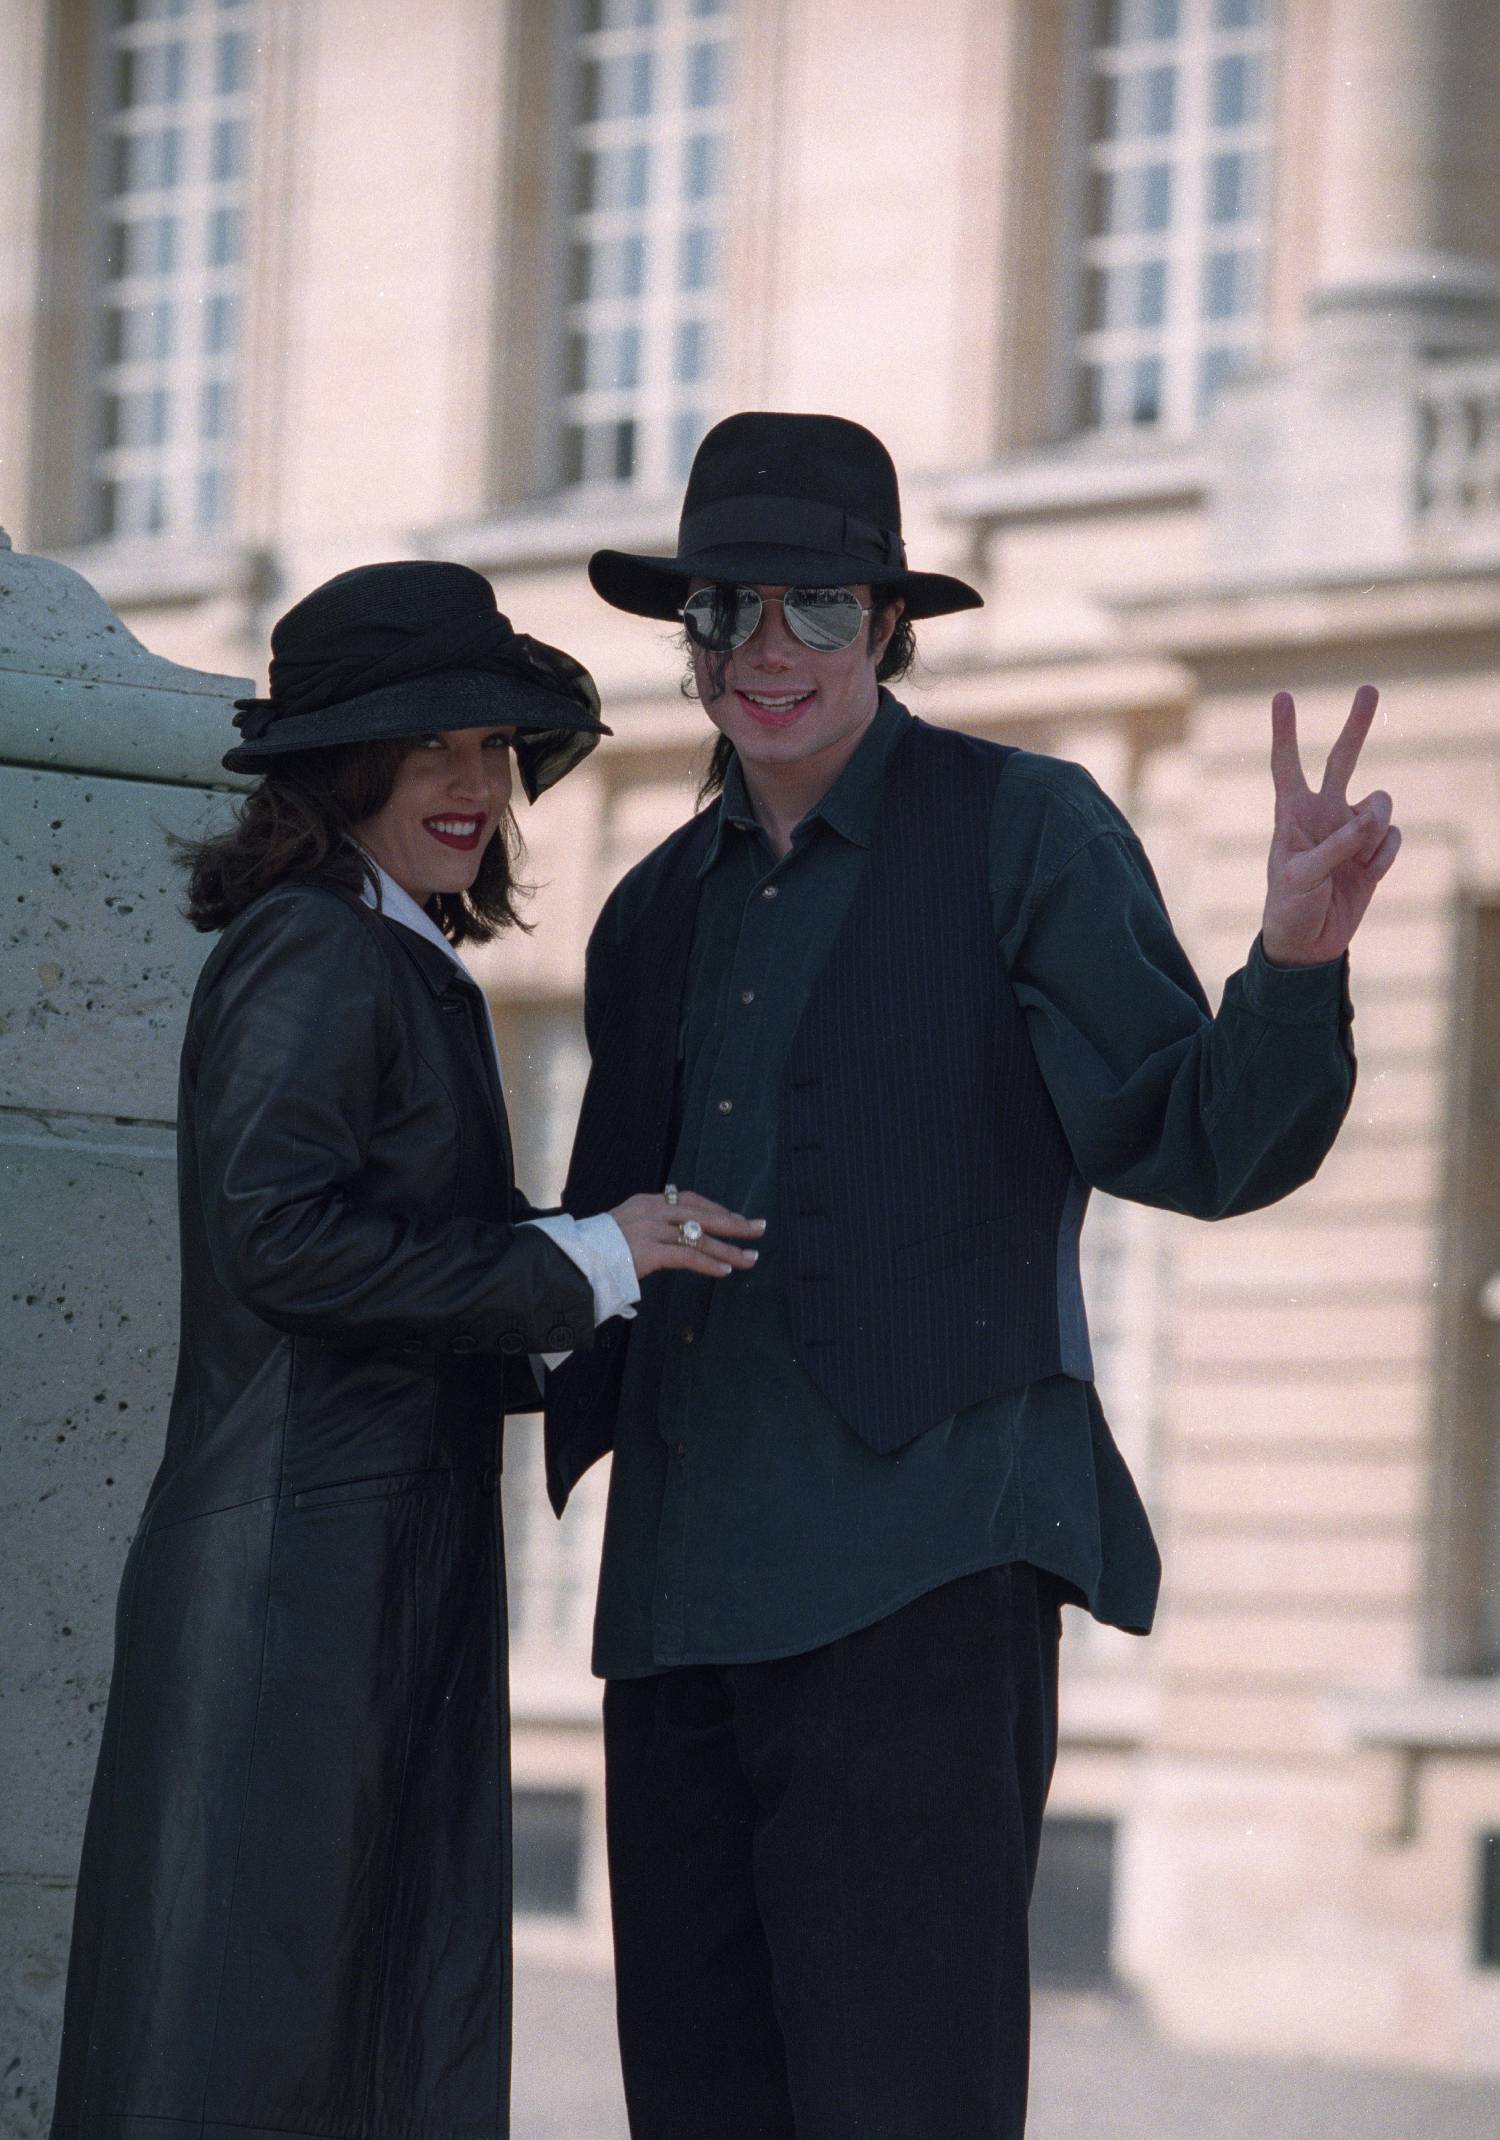
[[[1295,360],[1213,426],[1224,569],[1406,565],[1434,362],[1500,349],[1500,9],[1327,0],[1318,278]]]

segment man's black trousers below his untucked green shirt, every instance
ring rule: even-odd
[[[1021,2140],[1059,1586],[603,1695],[633,2140]]]

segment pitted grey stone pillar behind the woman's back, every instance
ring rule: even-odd
[[[148,653],[0,533],[0,2129],[47,2129],[113,1599],[175,1365],[175,1057],[210,937],[167,835],[248,683]]]

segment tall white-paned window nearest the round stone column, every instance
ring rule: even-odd
[[[1260,336],[1271,0],[1083,0],[1074,417],[1192,430]]]

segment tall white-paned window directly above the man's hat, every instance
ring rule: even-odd
[[[558,479],[668,490],[710,419],[730,0],[576,0]]]

